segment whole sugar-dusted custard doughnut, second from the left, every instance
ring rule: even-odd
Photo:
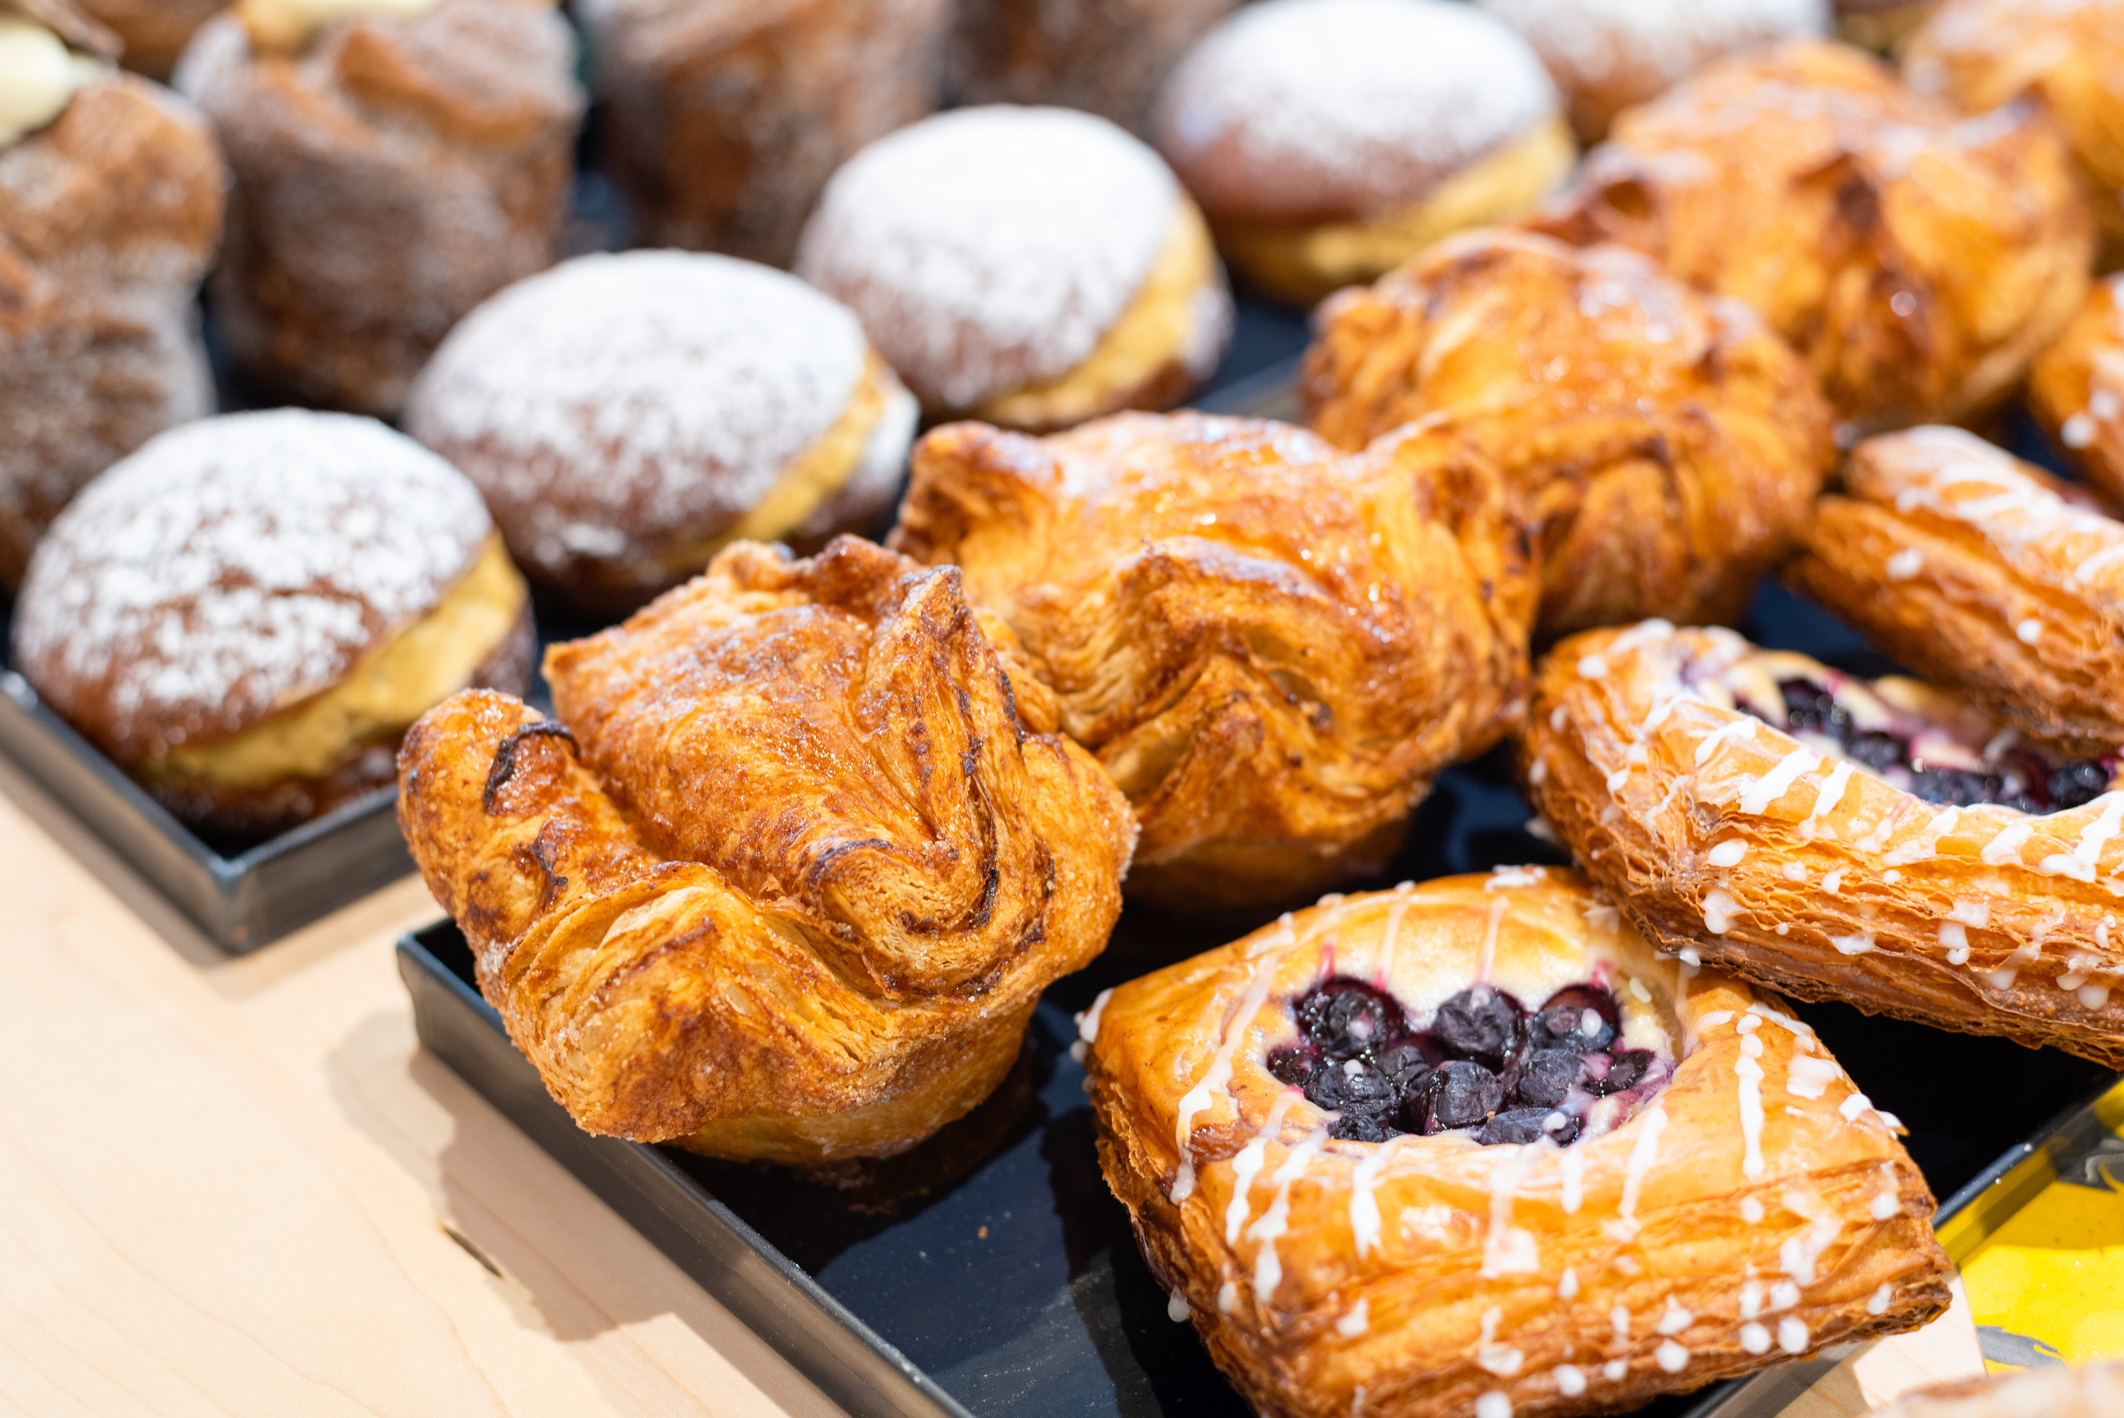
[[[915,412],[856,316],[794,276],[635,250],[480,306],[421,374],[406,429],[478,484],[556,601],[624,613],[724,543],[869,531]]]

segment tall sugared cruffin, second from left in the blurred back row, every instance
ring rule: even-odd
[[[210,295],[261,393],[391,416],[459,316],[552,265],[582,119],[548,0],[242,0],[176,70],[236,170]]]

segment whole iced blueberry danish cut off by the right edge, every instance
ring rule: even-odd
[[[1557,645],[1521,777],[1684,959],[2124,1066],[2124,792],[2101,762],[1914,679],[1655,620]]]

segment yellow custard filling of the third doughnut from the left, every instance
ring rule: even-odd
[[[1143,287],[1092,352],[1051,380],[983,399],[975,418],[1017,429],[1083,422],[1113,410],[1117,393],[1141,388],[1202,338],[1200,293],[1217,280],[1217,244],[1187,197]]]

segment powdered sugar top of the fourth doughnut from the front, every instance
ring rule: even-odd
[[[1536,53],[1468,4],[1264,0],[1172,72],[1158,146],[1213,214],[1372,214],[1555,115]]]

